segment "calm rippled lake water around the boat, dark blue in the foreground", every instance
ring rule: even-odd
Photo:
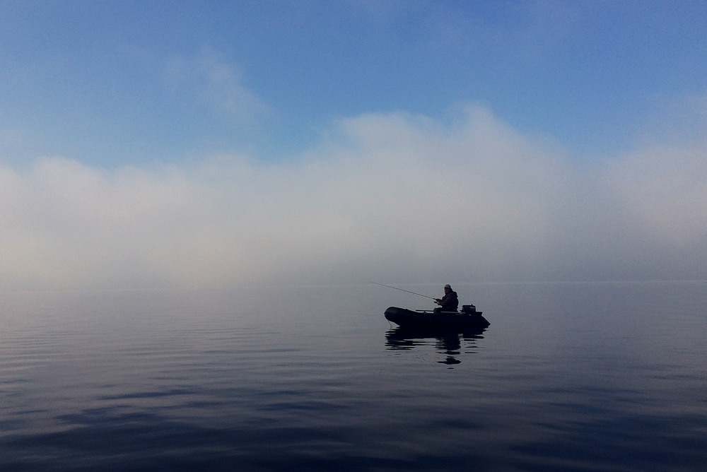
[[[2,293],[0,470],[705,470],[707,283],[455,290]]]

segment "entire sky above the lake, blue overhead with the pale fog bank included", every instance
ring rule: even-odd
[[[0,281],[704,278],[706,26],[703,1],[4,1]]]

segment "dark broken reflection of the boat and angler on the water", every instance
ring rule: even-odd
[[[397,327],[385,333],[385,348],[387,350],[410,350],[418,346],[431,346],[445,355],[440,364],[455,365],[462,362],[459,357],[463,354],[477,353],[478,340],[483,339],[481,334],[485,328],[469,329],[460,333],[455,330],[429,330],[408,329]],[[463,348],[463,352],[462,352]]]

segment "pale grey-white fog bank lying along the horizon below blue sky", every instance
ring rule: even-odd
[[[285,163],[0,167],[8,288],[705,278],[707,146],[577,165],[480,107],[338,122]],[[574,164],[573,164],[574,163]]]

